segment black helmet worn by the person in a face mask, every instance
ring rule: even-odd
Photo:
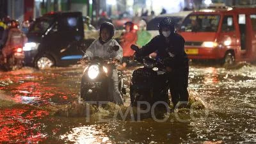
[[[164,17],[164,19],[159,22],[158,30],[159,30],[159,33],[161,35],[162,35],[162,28],[163,27],[169,28],[171,33],[174,33],[174,31],[175,31],[175,22],[174,22],[174,20],[170,17]]]

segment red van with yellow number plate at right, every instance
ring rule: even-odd
[[[192,60],[256,60],[256,8],[220,8],[190,13],[180,35]]]

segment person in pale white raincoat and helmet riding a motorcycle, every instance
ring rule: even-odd
[[[110,22],[104,22],[100,26],[99,38],[94,40],[93,43],[88,47],[84,57],[92,58],[94,56],[99,56],[100,58],[109,59],[113,58],[113,61],[122,61],[123,49],[122,47],[113,39],[115,35],[115,28]],[[118,51],[113,51],[111,47],[118,45]],[[109,70],[111,74],[108,74],[109,78],[109,101],[113,101],[116,104],[124,104],[122,100],[122,95],[118,90],[118,71],[116,67],[111,67]]]

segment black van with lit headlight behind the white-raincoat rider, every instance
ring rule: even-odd
[[[23,48],[26,65],[47,68],[76,63],[83,52],[71,44],[84,38],[82,13],[47,13],[36,19],[27,36]]]

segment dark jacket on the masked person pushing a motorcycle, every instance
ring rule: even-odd
[[[155,36],[148,44],[141,47],[138,52],[139,56],[148,56],[148,54],[157,51],[157,58],[164,61],[172,53],[174,57],[169,59],[170,61],[166,66],[173,68],[187,67],[188,56],[184,52],[184,38],[177,33],[173,33],[168,38],[170,40],[169,44],[166,43],[163,35]]]

